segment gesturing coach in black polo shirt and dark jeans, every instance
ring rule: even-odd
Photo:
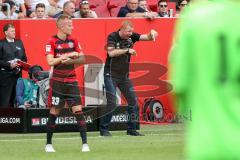
[[[158,33],[151,30],[148,34],[133,32],[133,24],[130,21],[123,21],[118,31],[111,33],[107,39],[107,59],[104,68],[104,84],[107,96],[107,113],[100,119],[100,135],[111,136],[109,123],[112,112],[116,108],[116,88],[118,87],[128,103],[128,128],[127,134],[141,136],[136,131],[138,116],[137,97],[131,80],[129,79],[130,58],[136,55],[132,49],[137,41],[155,40]]]

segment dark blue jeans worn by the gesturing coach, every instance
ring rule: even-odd
[[[100,132],[106,132],[109,130],[109,124],[112,119],[113,111],[116,109],[116,88],[118,87],[125,97],[128,103],[128,131],[136,131],[137,122],[139,120],[137,97],[132,85],[131,80],[128,77],[116,78],[104,76],[104,84],[106,88],[107,97],[107,113],[101,116],[100,119]]]

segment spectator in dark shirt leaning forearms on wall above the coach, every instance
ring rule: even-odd
[[[126,6],[120,8],[117,17],[145,17],[154,19],[157,17],[157,14],[147,12],[139,7],[138,0],[127,0]]]

